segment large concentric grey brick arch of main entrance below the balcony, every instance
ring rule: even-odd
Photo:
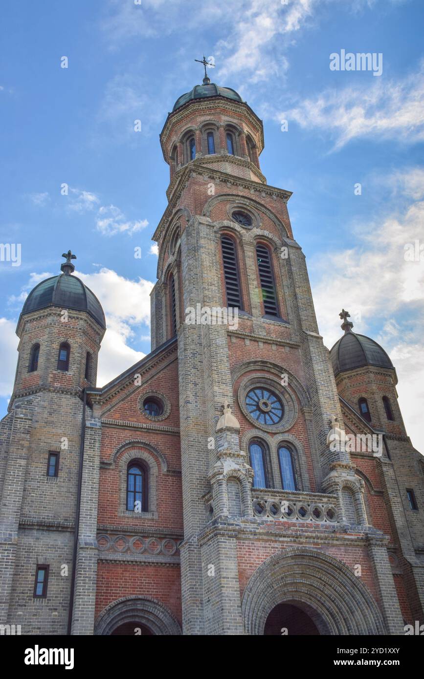
[[[319,634],[385,634],[381,613],[366,586],[345,564],[316,549],[283,549],[255,570],[242,600],[246,634],[265,634],[277,606],[281,608],[275,616],[296,612],[282,604],[302,610]],[[298,614],[298,625],[302,620],[306,625],[307,619]],[[271,622],[272,618],[269,626]]]

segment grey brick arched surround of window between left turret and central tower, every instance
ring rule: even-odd
[[[126,509],[126,473],[131,460],[142,460],[147,470],[147,507],[148,511],[128,511]],[[158,518],[158,465],[152,453],[142,447],[135,447],[126,452],[118,462],[120,503],[118,516],[128,516],[137,521],[138,519]]]

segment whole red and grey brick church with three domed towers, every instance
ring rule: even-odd
[[[0,624],[416,629],[424,458],[391,359],[345,310],[324,346],[291,193],[262,174],[262,121],[206,64],[160,145],[170,181],[151,352],[96,386],[107,319],[71,251],[24,302],[0,424]]]

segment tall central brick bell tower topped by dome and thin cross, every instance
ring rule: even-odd
[[[349,454],[327,443],[342,413],[291,193],[262,174],[262,121],[202,63],[202,84],[177,99],[160,134],[170,183],[154,234],[152,348],[177,335],[183,633],[245,634],[239,536],[270,538],[264,519],[298,509],[332,524],[347,514],[346,484],[357,521],[366,514]],[[288,492],[309,501],[290,504]]]

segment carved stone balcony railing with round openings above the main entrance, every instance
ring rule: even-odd
[[[252,488],[253,516],[258,519],[337,524],[337,497],[322,493]]]

